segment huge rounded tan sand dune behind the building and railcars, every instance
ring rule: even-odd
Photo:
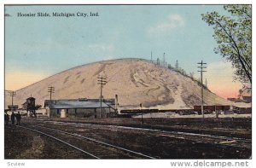
[[[137,108],[139,103],[143,103],[143,107],[175,109],[189,108],[201,103],[201,88],[190,78],[148,61],[125,59],[74,67],[45,78],[17,90],[15,104],[21,105],[32,95],[36,98],[37,104],[44,106],[44,100],[49,99],[49,86],[55,87],[53,99],[99,98],[99,75],[106,76],[108,81],[103,88],[103,96],[114,98],[117,94],[119,106],[123,108]],[[230,101],[208,90],[204,92],[208,105],[230,104]],[[10,104],[9,95],[6,95],[5,101],[7,107],[7,104]]]

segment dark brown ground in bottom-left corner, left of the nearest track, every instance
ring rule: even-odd
[[[91,157],[30,130],[5,126],[4,159],[91,159]]]

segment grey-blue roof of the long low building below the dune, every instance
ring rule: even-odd
[[[49,108],[55,109],[69,109],[69,108],[99,108],[101,107],[100,101],[52,101],[49,103]],[[102,107],[108,105],[102,102]]]

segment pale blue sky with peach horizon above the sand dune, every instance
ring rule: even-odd
[[[212,26],[201,14],[223,5],[30,5],[5,6],[5,90],[19,90],[41,79],[90,62],[118,58],[178,61],[187,73],[207,62],[207,86],[218,96],[238,95],[230,62],[213,49]],[[47,17],[18,14],[48,13]],[[53,13],[75,14],[55,17]],[[77,14],[99,14],[94,17]]]

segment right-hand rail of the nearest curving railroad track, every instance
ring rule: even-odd
[[[115,146],[115,145],[112,145],[112,144],[109,144],[109,143],[106,143],[106,142],[100,142],[96,139],[93,139],[93,138],[90,138],[90,137],[87,137],[87,136],[82,136],[82,135],[79,135],[79,134],[73,134],[73,133],[70,133],[70,132],[67,132],[67,131],[63,131],[63,130],[55,130],[55,129],[52,129],[52,128],[39,126],[39,125],[37,125],[37,127],[41,127],[41,128],[47,129],[47,130],[54,130],[56,132],[61,132],[63,134],[67,134],[67,135],[70,135],[70,136],[77,136],[77,137],[80,137],[80,138],[83,138],[83,139],[86,139],[86,140],[89,140],[89,141],[92,141],[92,142],[101,143],[101,144],[103,144],[105,146],[108,146],[108,147],[119,148],[120,150],[124,150],[125,152],[129,152],[129,153],[132,153],[132,154],[137,154],[137,155],[143,156],[143,157],[148,158],[148,159],[155,159],[154,157],[148,156],[146,154],[138,153],[138,152],[129,150],[127,148],[118,147],[118,146]]]

